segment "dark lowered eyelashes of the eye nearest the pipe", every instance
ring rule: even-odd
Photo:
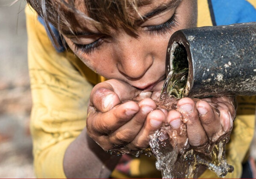
[[[146,26],[146,30],[149,33],[153,34],[165,34],[168,30],[172,29],[177,25],[177,16],[176,12],[172,15],[170,19],[168,19],[166,22],[159,24],[159,25],[151,25],[151,26]]]

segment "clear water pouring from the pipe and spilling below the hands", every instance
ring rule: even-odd
[[[183,96],[187,73],[187,69],[169,73],[158,102],[159,108],[176,109],[177,100]],[[183,119],[179,136],[186,135],[187,120],[188,118]],[[182,146],[178,146],[177,132],[170,125],[164,124],[150,136],[151,151],[157,159],[156,168],[162,172],[163,178],[198,177],[201,166],[205,166],[220,177],[233,172],[234,167],[228,165],[225,159],[225,145],[229,141],[230,132],[222,136],[221,140],[202,149],[189,149],[188,139]]]

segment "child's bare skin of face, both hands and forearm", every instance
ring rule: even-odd
[[[140,7],[139,12],[145,15],[168,2],[174,0],[154,0],[149,6]],[[77,8],[86,12],[79,2]],[[93,25],[75,17],[79,24],[72,27],[73,31],[89,29],[96,34],[72,36],[63,33],[67,44],[88,67],[110,80],[97,84],[91,92],[87,126],[64,156],[64,171],[68,178],[108,178],[119,157],[110,156],[104,150],[124,145],[131,150],[145,149],[149,145],[148,136],[164,122],[175,129],[182,118],[189,117],[187,136],[179,136],[179,141],[181,145],[188,137],[189,145],[194,148],[215,142],[232,129],[233,98],[183,98],[178,101],[177,109],[171,111],[157,109],[153,100],[159,96],[165,78],[169,37],[176,30],[195,26],[196,11],[195,0],[182,0],[146,19],[138,28],[137,37],[127,34],[124,29],[110,29],[107,36],[97,34]],[[174,12],[178,21],[175,26],[164,33],[147,31],[148,26],[166,22]],[[103,38],[102,43],[89,53],[74,45],[92,43],[99,38]],[[132,100],[146,89],[154,91],[151,98],[140,102]]]

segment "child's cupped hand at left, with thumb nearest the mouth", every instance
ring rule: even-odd
[[[93,88],[86,120],[87,132],[105,151],[146,149],[149,135],[165,122],[166,114],[156,109],[153,99],[132,100],[140,93],[141,90],[114,79]]]

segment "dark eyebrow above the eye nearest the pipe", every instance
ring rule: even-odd
[[[181,3],[181,0],[172,0],[168,3],[163,3],[157,6],[155,9],[151,10],[150,12],[146,13],[143,17],[148,19],[154,15],[160,14],[168,9],[172,9],[177,7]]]

